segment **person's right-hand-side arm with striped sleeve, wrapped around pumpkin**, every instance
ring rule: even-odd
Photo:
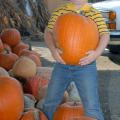
[[[97,24],[100,40],[96,50],[88,51],[86,53],[86,57],[80,60],[80,65],[87,65],[96,60],[102,54],[110,39],[109,30],[107,29],[107,25],[102,14],[92,6],[90,7],[88,5],[88,8],[89,9],[87,9],[87,12],[90,12],[91,14],[91,16],[88,15],[88,17],[90,17]],[[83,10],[86,10],[85,7]]]

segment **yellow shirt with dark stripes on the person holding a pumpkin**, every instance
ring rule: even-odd
[[[67,3],[64,6],[57,8],[51,15],[51,18],[48,22],[48,28],[52,30],[57,18],[60,15],[68,12],[82,13],[85,17],[92,19],[97,24],[100,35],[104,33],[109,33],[107,25],[101,13],[92,6],[90,6],[89,4],[85,4],[80,9],[76,9],[74,3]]]

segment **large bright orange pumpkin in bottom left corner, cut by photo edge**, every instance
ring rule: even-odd
[[[0,120],[19,120],[24,110],[20,83],[12,77],[0,77]]]

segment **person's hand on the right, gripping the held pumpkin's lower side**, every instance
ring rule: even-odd
[[[80,59],[79,64],[81,66],[90,64],[91,62],[93,62],[94,60],[96,60],[97,57],[98,57],[98,54],[94,50],[88,51],[86,54],[87,54],[86,57]]]

